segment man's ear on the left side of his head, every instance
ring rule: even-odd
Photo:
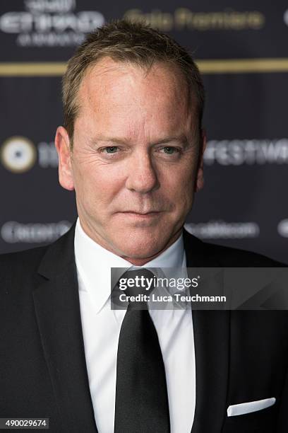
[[[59,159],[59,183],[66,190],[74,189],[73,171],[71,164],[71,148],[68,132],[64,127],[58,127],[55,135],[55,147]]]

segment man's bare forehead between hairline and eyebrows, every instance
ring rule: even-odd
[[[152,123],[174,127],[188,120],[193,111],[186,82],[176,67],[156,63],[147,69],[109,57],[88,68],[78,103],[82,121],[93,118],[103,127],[111,127],[112,122],[114,127],[123,123],[132,128]]]

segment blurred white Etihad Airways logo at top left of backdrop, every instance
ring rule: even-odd
[[[23,6],[0,16],[0,30],[16,34],[20,47],[76,46],[105,21],[99,11],[76,12],[76,0],[26,0]]]

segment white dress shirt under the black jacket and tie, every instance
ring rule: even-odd
[[[99,433],[114,432],[116,361],[125,310],[110,306],[111,267],[133,267],[83,231],[78,219],[75,257],[90,394]],[[143,267],[186,267],[183,236]],[[150,310],[164,360],[171,433],[190,433],[196,403],[191,308]],[[73,380],[73,378],[71,378]]]

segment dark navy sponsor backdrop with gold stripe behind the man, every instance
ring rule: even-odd
[[[1,0],[0,252],[54,241],[76,218],[57,178],[61,74],[85,34],[145,19],[203,72],[205,188],[187,227],[288,262],[288,1]]]

